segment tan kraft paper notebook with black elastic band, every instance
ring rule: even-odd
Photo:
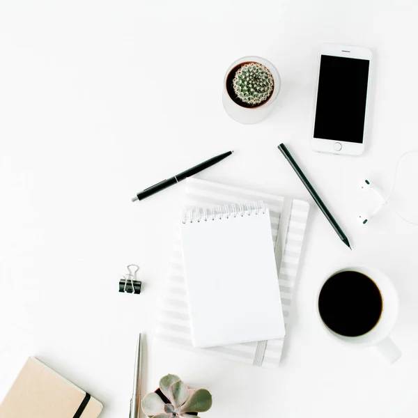
[[[0,418],[98,418],[102,409],[95,398],[29,357],[0,404]]]

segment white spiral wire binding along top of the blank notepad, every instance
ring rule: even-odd
[[[265,205],[263,201],[255,201],[251,203],[231,203],[230,205],[217,205],[210,208],[193,208],[185,210],[182,215],[181,222],[183,224],[194,224],[199,222],[208,222],[208,220],[222,220],[230,217],[245,217],[251,215],[259,215],[260,212],[265,214]]]

